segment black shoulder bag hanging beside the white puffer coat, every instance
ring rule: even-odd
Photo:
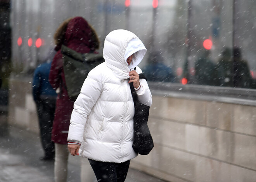
[[[140,79],[146,79],[141,73]],[[135,114],[134,120],[134,141],[132,148],[140,155],[147,155],[154,147],[153,139],[147,126],[149,119],[149,106],[141,104],[138,101],[136,91],[134,90],[133,83],[130,83],[131,95],[133,97]]]

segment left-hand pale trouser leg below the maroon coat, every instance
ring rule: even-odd
[[[69,151],[67,145],[55,143],[54,179],[55,182],[67,181],[67,160]]]

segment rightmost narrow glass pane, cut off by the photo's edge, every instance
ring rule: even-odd
[[[234,3],[234,87],[256,88],[256,1]]]

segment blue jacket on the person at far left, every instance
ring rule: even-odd
[[[50,85],[48,78],[50,73],[50,67],[51,67],[52,61],[49,63],[42,63],[39,65],[35,72],[33,77],[33,98],[36,101],[40,97],[43,98],[56,98],[57,94],[55,90]]]

